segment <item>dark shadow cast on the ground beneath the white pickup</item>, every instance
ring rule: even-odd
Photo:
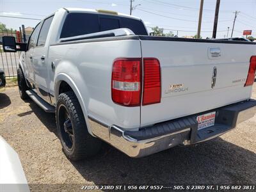
[[[29,106],[49,131],[55,116],[33,101]],[[104,144],[91,159],[71,162],[85,180],[100,184],[255,184],[256,154],[221,138],[190,147],[174,147],[132,159]]]

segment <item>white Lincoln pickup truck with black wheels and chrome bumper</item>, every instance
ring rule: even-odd
[[[24,51],[20,97],[56,113],[63,152],[93,156],[106,141],[130,157],[215,138],[256,113],[256,44],[148,36],[136,17],[61,8]],[[243,137],[243,135],[241,135]]]

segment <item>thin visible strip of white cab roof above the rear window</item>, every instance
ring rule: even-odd
[[[93,10],[93,9],[86,9],[86,8],[64,8],[65,10],[68,10],[68,12],[85,12],[85,13],[101,13],[106,15],[114,15],[113,13],[116,13],[116,15],[122,16],[122,17],[129,17],[132,19],[138,19],[141,20],[139,17],[134,17],[132,15],[127,15],[124,13],[119,12],[113,12],[110,10]]]

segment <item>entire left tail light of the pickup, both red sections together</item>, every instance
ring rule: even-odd
[[[113,63],[111,94],[113,102],[123,106],[141,105],[141,59],[121,58]],[[156,58],[143,60],[142,105],[161,102],[160,64]]]

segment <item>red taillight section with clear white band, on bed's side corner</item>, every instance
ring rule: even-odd
[[[124,106],[140,106],[141,59],[118,59],[113,63],[112,100]]]

